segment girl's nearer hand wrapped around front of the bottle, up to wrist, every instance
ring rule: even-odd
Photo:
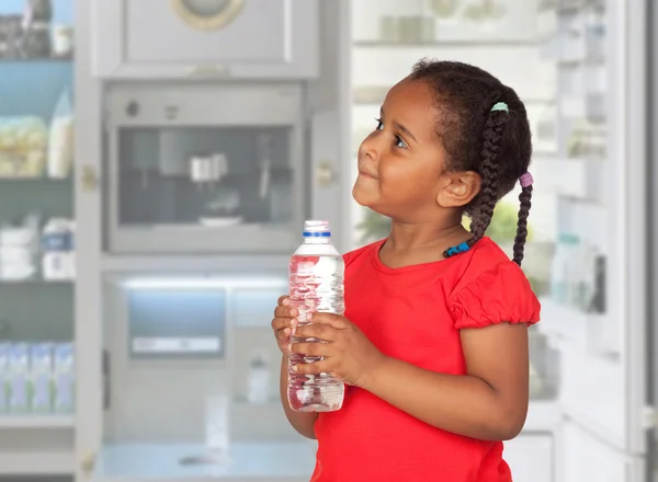
[[[316,312],[309,321],[313,323],[297,328],[295,336],[316,337],[327,343],[296,342],[291,345],[291,352],[324,359],[296,365],[298,374],[327,372],[348,385],[363,387],[371,374],[386,360],[386,356],[347,318]]]

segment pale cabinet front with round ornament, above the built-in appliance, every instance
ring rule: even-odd
[[[94,0],[102,78],[306,79],[318,73],[317,0]]]

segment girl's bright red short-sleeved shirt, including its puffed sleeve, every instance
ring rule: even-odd
[[[488,238],[447,260],[395,269],[379,260],[383,243],[344,255],[345,317],[388,356],[465,375],[460,329],[540,319],[523,272]],[[356,387],[347,388],[341,410],[319,415],[315,432],[311,482],[512,480],[502,443],[435,428]]]

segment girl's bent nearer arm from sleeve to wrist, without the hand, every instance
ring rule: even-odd
[[[430,425],[481,440],[514,438],[529,403],[525,323],[461,331],[467,375],[438,374],[384,357],[361,387]]]

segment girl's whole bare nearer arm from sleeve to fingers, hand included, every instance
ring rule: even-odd
[[[515,437],[527,414],[527,324],[499,323],[461,330],[467,375],[418,368],[382,354],[350,320],[315,313],[297,328],[292,351],[325,357],[297,365],[303,374],[330,372],[430,425],[481,440]]]

